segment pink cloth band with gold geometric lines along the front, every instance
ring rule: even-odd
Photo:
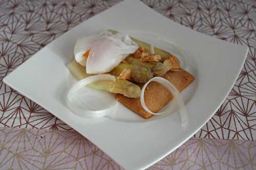
[[[76,132],[0,129],[0,169],[122,169]],[[191,138],[148,169],[256,169],[256,141]]]

